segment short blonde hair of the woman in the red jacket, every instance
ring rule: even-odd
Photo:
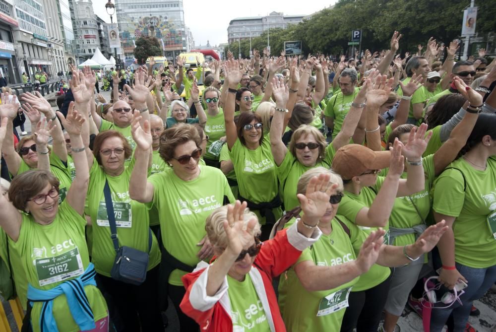
[[[218,248],[227,248],[229,243],[226,231],[224,230],[224,220],[227,219],[227,207],[228,205],[224,205],[216,208],[205,221],[205,231],[207,231],[208,239],[212,245]],[[248,221],[252,217],[256,218],[256,214],[246,208],[245,214],[243,215],[245,227],[248,225]],[[260,224],[257,220],[255,227],[253,228],[253,236],[258,236],[260,234]]]

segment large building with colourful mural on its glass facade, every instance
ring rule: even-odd
[[[134,40],[142,35],[157,37],[168,59],[186,52],[182,0],[119,0],[116,13],[126,63],[134,59]]]

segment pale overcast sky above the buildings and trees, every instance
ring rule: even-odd
[[[119,0],[116,0],[119,1]],[[157,2],[160,2],[158,0]],[[285,15],[308,15],[329,7],[337,0],[313,0],[300,2],[291,0],[183,0],[186,26],[191,29],[195,45],[214,46],[227,42],[229,21],[237,17],[265,16],[272,11]],[[105,11],[106,0],[93,0],[93,9],[102,19],[110,23]],[[115,3],[115,2],[114,2]]]

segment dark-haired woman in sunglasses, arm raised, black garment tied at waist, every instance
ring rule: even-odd
[[[229,82],[224,107],[227,144],[238,179],[238,197],[247,201],[249,209],[257,215],[262,225],[261,239],[265,240],[282,214],[277,170],[270,142],[264,139],[260,118],[253,112],[242,112],[238,122],[234,122],[236,87],[242,75],[236,66],[237,62],[226,62]],[[286,105],[280,107],[285,108]]]

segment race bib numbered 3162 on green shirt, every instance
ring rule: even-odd
[[[63,281],[84,273],[83,262],[76,248],[52,258],[35,260],[40,286]]]

